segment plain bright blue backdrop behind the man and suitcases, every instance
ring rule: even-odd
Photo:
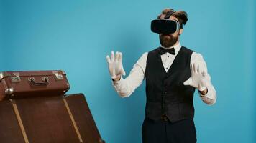
[[[141,142],[145,84],[120,98],[106,55],[122,51],[129,74],[159,46],[150,21],[166,7],[183,9],[180,43],[204,55],[217,91],[214,106],[196,92],[198,142],[256,142],[254,0],[15,1],[0,0],[0,71],[63,69],[68,93],[83,92],[108,143]]]

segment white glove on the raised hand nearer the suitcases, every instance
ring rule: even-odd
[[[125,76],[121,52],[116,51],[116,56],[114,56],[114,51],[111,51],[111,58],[107,55],[106,61],[109,64],[109,73],[112,79],[116,79],[116,77],[119,77],[121,74]]]

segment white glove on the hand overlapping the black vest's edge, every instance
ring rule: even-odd
[[[191,64],[191,77],[188,78],[183,84],[195,87],[199,91],[206,89],[206,74],[207,67],[202,61]]]

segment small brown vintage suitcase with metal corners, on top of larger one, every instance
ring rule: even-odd
[[[70,88],[64,71],[5,71],[0,73],[3,99],[63,95]]]

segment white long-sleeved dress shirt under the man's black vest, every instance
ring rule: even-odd
[[[163,46],[161,46],[164,48]],[[169,47],[175,49],[175,55],[170,53],[165,53],[161,55],[161,59],[163,62],[163,67],[165,68],[165,71],[168,72],[170,69],[170,66],[173,64],[173,61],[180,51],[181,45],[180,43],[176,44],[175,46]],[[169,49],[165,48],[165,49]],[[120,97],[129,97],[137,87],[142,84],[143,80],[145,79],[145,69],[147,64],[147,52],[142,54],[140,59],[137,61],[136,64],[134,64],[132,70],[130,71],[127,78],[121,79],[119,81],[113,82],[114,89],[119,94]],[[191,64],[195,62],[204,61],[204,58],[201,54],[198,54],[196,52],[193,52],[191,55]],[[216,90],[214,89],[214,86],[211,84],[211,77],[209,74],[206,74],[206,87],[208,89],[208,92],[205,95],[200,94],[200,97],[203,102],[206,104],[214,104],[216,102]],[[185,81],[184,81],[185,82]]]

